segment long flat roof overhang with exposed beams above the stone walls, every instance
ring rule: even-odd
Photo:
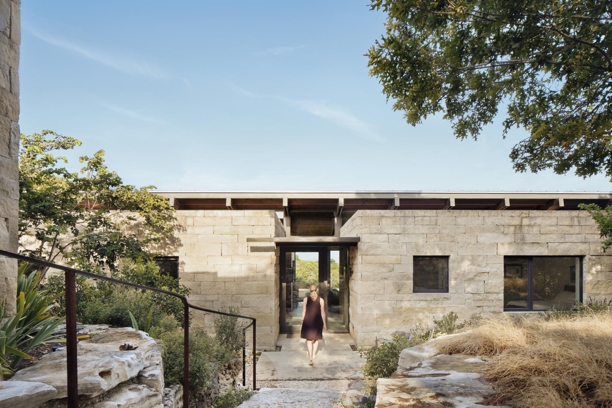
[[[608,206],[610,192],[344,191],[240,192],[159,191],[179,210],[576,210],[580,203]]]

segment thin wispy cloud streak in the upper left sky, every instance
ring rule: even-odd
[[[140,75],[143,77],[156,79],[168,77],[168,74],[163,69],[159,69],[158,67],[146,64],[142,61],[136,61],[135,59],[127,56],[109,55],[108,53],[103,53],[102,51],[92,50],[91,48],[84,47],[83,45],[78,45],[76,43],[54,37],[51,34],[37,31],[30,26],[23,26],[23,28],[30,32],[33,36],[50,43],[51,45],[72,51],[84,56],[85,58],[100,62],[100,64],[107,67],[125,72],[126,74]]]

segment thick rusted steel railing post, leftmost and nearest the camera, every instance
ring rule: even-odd
[[[68,408],[78,408],[78,374],[76,368],[76,283],[75,273],[65,271],[66,297],[66,377]]]

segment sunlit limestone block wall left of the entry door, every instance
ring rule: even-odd
[[[278,256],[274,243],[247,238],[284,235],[274,211],[178,210],[177,242],[164,255],[179,256],[181,284],[190,301],[207,309],[234,306],[257,319],[257,346],[274,348],[278,335]],[[212,332],[214,315],[196,312],[193,325]]]

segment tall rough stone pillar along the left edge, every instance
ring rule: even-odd
[[[21,0],[0,0],[0,248],[17,252]],[[15,309],[17,260],[0,258],[0,298]]]

